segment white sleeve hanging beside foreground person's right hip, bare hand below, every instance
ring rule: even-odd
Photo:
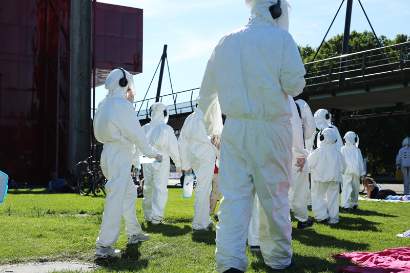
[[[309,152],[304,149],[302,122],[300,121],[299,113],[296,108],[296,104],[293,101],[293,98],[289,95],[288,97],[289,97],[289,102],[291,103],[291,109],[292,109],[292,117],[291,117],[292,135],[293,135],[292,149],[297,158],[305,158],[305,157],[308,157]]]

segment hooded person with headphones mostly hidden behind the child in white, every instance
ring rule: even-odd
[[[316,122],[316,133],[312,135],[310,139],[306,140],[306,149],[308,151],[316,150],[320,146],[320,139],[318,139],[319,132],[325,128],[333,128],[337,134],[337,141],[336,141],[336,147],[340,150],[343,147],[343,140],[342,137],[340,136],[339,130],[335,125],[332,124],[332,115],[329,111],[326,109],[319,109],[316,111],[315,115],[313,115],[313,118],[315,119]]]

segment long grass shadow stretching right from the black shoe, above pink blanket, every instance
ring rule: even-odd
[[[336,226],[337,224],[334,224]],[[320,239],[319,239],[320,238]],[[318,234],[315,229],[308,228],[305,230],[292,230],[292,240],[298,240],[300,243],[317,247],[339,247],[349,251],[357,249],[368,249],[370,244],[357,243],[349,240],[340,240],[334,236]]]

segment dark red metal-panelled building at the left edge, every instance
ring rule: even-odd
[[[93,22],[84,25],[91,28],[86,43],[72,35],[83,31],[72,28],[78,26],[71,16],[75,1],[90,10],[84,18]],[[142,72],[142,10],[91,0],[1,1],[0,39],[0,170],[16,182],[45,185],[50,172],[61,177],[91,154],[91,137],[80,140],[88,151],[71,152],[78,148],[72,140],[81,138],[75,132],[92,135],[91,84],[103,84],[116,67]],[[89,52],[85,58],[91,69],[84,75],[72,62],[77,42]],[[73,79],[81,76],[90,84],[73,90]],[[81,99],[90,103],[84,106]],[[76,128],[74,118],[88,125]]]

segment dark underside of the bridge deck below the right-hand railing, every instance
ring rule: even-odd
[[[312,113],[318,109],[340,109],[355,111],[379,107],[391,107],[396,103],[410,104],[410,87],[403,83],[371,87],[366,91],[364,88],[336,91],[323,94],[302,96],[308,102]]]

